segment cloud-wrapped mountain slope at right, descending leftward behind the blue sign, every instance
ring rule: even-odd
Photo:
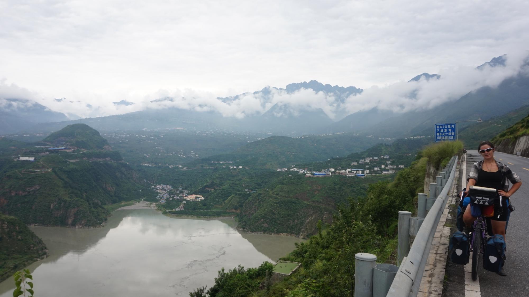
[[[399,83],[387,90],[377,90],[376,95],[387,96],[385,100],[333,123],[328,131],[393,137],[430,135],[435,123],[503,115],[529,103],[529,60],[527,57],[513,60],[509,64],[506,55],[493,58],[470,70],[472,77],[465,77],[466,71],[452,78],[423,73],[407,85]],[[440,101],[439,92],[445,92],[451,99]],[[415,108],[410,108],[412,104]]]

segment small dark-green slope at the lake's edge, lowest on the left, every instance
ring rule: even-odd
[[[0,214],[0,282],[47,254],[42,240],[24,222]]]

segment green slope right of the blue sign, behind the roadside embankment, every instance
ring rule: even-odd
[[[505,115],[485,120],[482,123],[459,128],[459,140],[464,142],[467,149],[475,150],[480,142],[490,140],[526,117],[527,114],[529,114],[529,106],[524,106]]]

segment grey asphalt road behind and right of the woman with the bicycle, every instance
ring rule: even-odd
[[[522,187],[511,198],[516,210],[507,228],[508,276],[499,276],[481,267],[479,283],[482,297],[529,296],[529,159],[495,152],[496,161],[504,163],[522,179]],[[473,163],[482,160],[477,151],[468,151],[467,174]]]

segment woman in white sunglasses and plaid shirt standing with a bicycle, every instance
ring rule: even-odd
[[[478,152],[483,157],[482,161],[474,163],[470,174],[468,175],[467,189],[470,189],[471,185],[477,185],[479,187],[494,188],[498,190],[498,194],[502,197],[508,198],[512,196],[522,185],[522,181],[516,173],[510,168],[494,160],[494,145],[489,141],[481,142],[478,146]],[[513,187],[509,189],[507,180],[509,180]],[[468,190],[465,192],[468,195]],[[495,206],[494,213],[500,214],[490,218],[492,223],[492,233],[503,236],[505,240],[505,226],[507,223],[508,215],[507,203],[501,203],[500,206]],[[470,207],[467,207],[463,214],[463,221],[466,225],[464,232],[468,234],[472,223],[476,220],[470,212]],[[498,273],[499,275],[506,276],[503,268]]]

